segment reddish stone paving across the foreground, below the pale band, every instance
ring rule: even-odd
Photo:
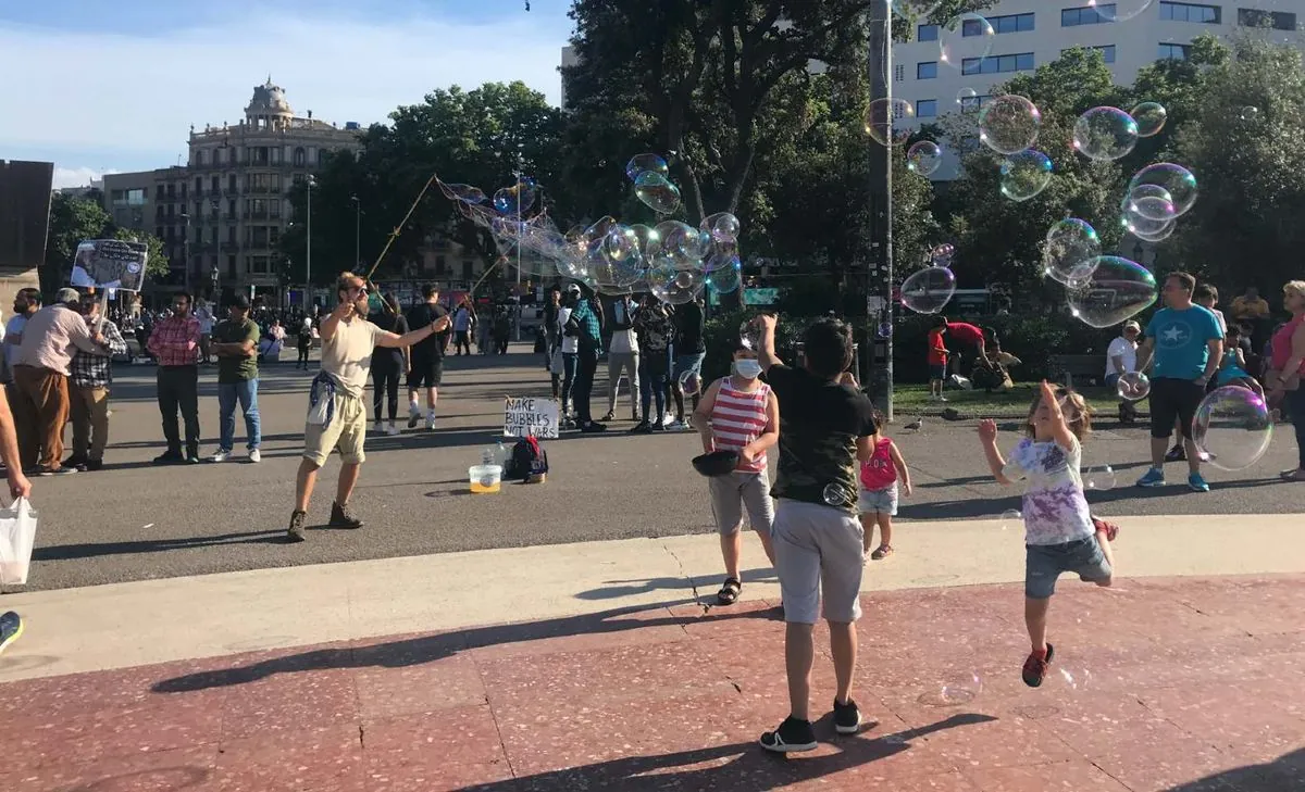
[[[864,597],[856,698],[776,758],[771,603],[622,608],[0,685],[5,792],[1305,789],[1305,576],[1064,582],[1040,689],[1019,586]]]

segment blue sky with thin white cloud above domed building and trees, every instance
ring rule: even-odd
[[[555,104],[569,0],[35,0],[0,8],[0,159],[56,186],[177,163],[271,74],[295,112],[384,121],[450,85],[522,79]]]

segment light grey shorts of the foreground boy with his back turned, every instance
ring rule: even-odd
[[[861,617],[864,539],[855,515],[830,505],[780,499],[775,509],[775,571],[784,621],[816,624]]]

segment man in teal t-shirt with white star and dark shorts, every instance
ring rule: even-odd
[[[1223,358],[1223,331],[1214,311],[1191,301],[1197,279],[1173,272],[1164,279],[1165,307],[1146,326],[1146,341],[1138,348],[1138,371],[1154,362],[1151,373],[1151,469],[1139,487],[1164,486],[1164,452],[1177,421],[1188,453],[1188,487],[1208,492],[1201,475],[1201,452],[1191,442],[1191,422],[1206,396],[1206,384]]]

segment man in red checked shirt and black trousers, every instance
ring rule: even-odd
[[[172,297],[172,315],[154,326],[150,354],[159,361],[157,382],[159,413],[167,451],[154,457],[155,465],[200,464],[200,320],[191,313],[191,296]],[[185,422],[185,456],[176,431],[176,412]]]

